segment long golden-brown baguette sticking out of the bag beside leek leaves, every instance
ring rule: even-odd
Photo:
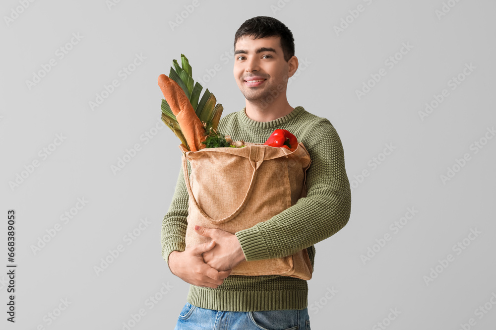
[[[207,137],[205,128],[198,116],[196,116],[183,88],[165,74],[159,75],[158,85],[167,103],[169,103],[172,113],[176,116],[191,151],[205,148],[205,144],[201,143]]]

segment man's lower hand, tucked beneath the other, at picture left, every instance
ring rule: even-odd
[[[232,269],[218,271],[205,264],[201,254],[209,251],[215,245],[214,241],[210,241],[193,246],[183,252],[171,252],[169,267],[172,273],[189,284],[217,289],[224,282],[224,278],[229,276]]]

